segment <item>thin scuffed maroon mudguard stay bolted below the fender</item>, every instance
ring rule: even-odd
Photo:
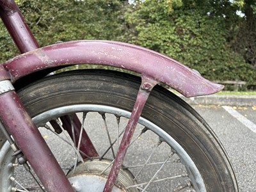
[[[151,81],[151,82],[150,82]],[[113,189],[116,177],[124,161],[125,154],[131,143],[132,135],[140,118],[141,112],[147,102],[150,91],[156,85],[156,81],[142,79],[141,87],[137,95],[136,102],[132,109],[132,114],[125,128],[124,136],[116,153],[115,161],[112,165],[108,180],[104,187],[104,192],[110,192]]]

